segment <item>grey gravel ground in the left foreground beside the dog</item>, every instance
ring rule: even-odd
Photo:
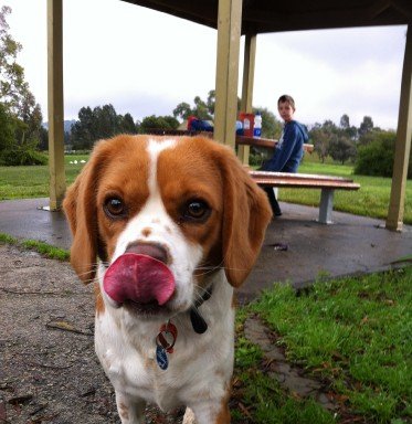
[[[0,245],[0,424],[120,423],[93,330],[93,287],[70,264]]]

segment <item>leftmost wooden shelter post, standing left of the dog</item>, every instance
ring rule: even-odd
[[[50,210],[62,206],[66,190],[64,172],[63,110],[63,4],[47,0],[47,107]]]

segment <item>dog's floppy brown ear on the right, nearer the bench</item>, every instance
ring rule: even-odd
[[[272,210],[265,192],[233,152],[225,147],[220,149],[218,161],[224,181],[223,263],[229,283],[239,287],[257,258]]]

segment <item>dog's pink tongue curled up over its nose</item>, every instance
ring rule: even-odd
[[[148,304],[154,300],[165,305],[175,292],[171,271],[151,256],[125,253],[106,271],[103,287],[118,304],[133,300]]]

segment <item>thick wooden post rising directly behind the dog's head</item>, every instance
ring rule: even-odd
[[[218,14],[214,138],[235,146],[242,0],[220,0]]]

